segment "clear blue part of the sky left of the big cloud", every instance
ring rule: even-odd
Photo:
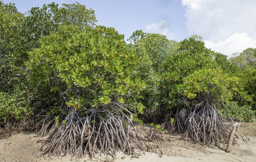
[[[124,34],[126,39],[138,29],[150,32],[146,30],[146,25],[162,20],[168,20],[169,30],[177,33],[172,37],[169,36],[169,39],[181,41],[189,36],[185,25],[185,7],[179,0],[55,0],[54,2],[62,4],[76,1],[95,10],[97,24],[114,27],[120,34]],[[15,3],[19,11],[24,13],[31,7],[42,7],[43,4],[49,4],[53,0],[4,0],[3,2]]]

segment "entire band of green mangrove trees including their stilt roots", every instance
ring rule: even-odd
[[[22,14],[0,1],[0,136],[36,131],[42,154],[93,158],[153,151],[163,131],[220,146],[225,120],[254,121],[256,48],[227,58],[200,36],[142,30],[128,44],[96,22],[79,3]]]

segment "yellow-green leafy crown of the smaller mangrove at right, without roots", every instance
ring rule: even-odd
[[[204,67],[197,70],[183,79],[181,91],[189,99],[200,103],[208,102],[220,106],[220,103],[228,102],[232,99],[232,82],[238,78],[230,78],[220,68]]]

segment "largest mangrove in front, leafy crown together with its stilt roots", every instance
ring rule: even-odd
[[[131,78],[138,56],[123,38],[114,28],[63,26],[29,53],[31,84],[57,93],[62,102],[59,114],[52,115],[50,123],[58,125],[53,124],[44,154],[93,157],[100,150],[114,155],[117,148],[132,154],[130,141],[143,149],[131,118],[140,123],[135,114],[143,113],[143,105],[136,99],[145,83]]]

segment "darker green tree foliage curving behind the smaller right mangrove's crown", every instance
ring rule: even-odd
[[[162,107],[175,110],[180,104],[179,98],[182,98],[180,85],[183,79],[205,66],[211,68],[216,67],[216,64],[204,53],[184,51],[170,55],[161,66],[158,97]]]

